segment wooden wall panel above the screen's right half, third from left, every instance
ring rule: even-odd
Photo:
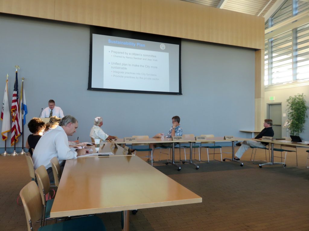
[[[209,41],[209,8],[179,0],[142,0],[142,32]]]

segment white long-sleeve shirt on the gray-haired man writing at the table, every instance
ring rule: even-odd
[[[46,169],[52,167],[50,160],[55,156],[60,164],[63,160],[77,157],[77,152],[69,147],[68,136],[61,126],[57,126],[57,128],[44,134],[36,144],[32,155],[34,168],[36,169],[41,165],[44,165]]]

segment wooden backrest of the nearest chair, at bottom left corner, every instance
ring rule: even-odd
[[[28,231],[31,231],[32,221],[35,224],[36,221],[40,220],[43,212],[39,188],[34,181],[31,181],[20,190],[19,195],[23,202]]]

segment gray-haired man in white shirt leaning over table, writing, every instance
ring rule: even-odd
[[[44,165],[48,172],[49,180],[54,181],[50,160],[57,157],[60,166],[64,167],[64,160],[75,159],[88,153],[86,148],[78,149],[69,147],[68,136],[72,136],[78,127],[78,121],[71,115],[63,117],[52,131],[44,134],[33,151],[32,160],[34,168]]]

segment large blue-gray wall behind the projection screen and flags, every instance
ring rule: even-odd
[[[183,95],[88,91],[88,26],[0,14],[0,31],[0,100],[8,73],[11,102],[19,65],[26,122],[54,99],[65,115],[79,120],[69,140],[90,141],[96,116],[104,118],[104,132],[118,137],[167,133],[174,115],[180,116],[185,134],[250,137],[239,130],[254,129],[253,50],[184,40]],[[29,134],[26,125],[25,139]]]

